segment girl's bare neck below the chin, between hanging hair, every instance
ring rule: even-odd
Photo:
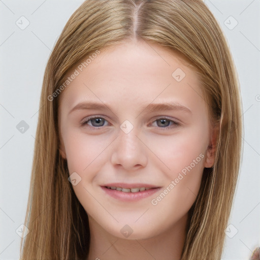
[[[147,239],[122,239],[106,232],[89,217],[87,260],[179,260],[186,239],[187,214],[166,231]]]

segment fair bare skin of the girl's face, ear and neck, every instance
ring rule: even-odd
[[[197,75],[182,57],[156,44],[125,41],[101,50],[59,97],[60,153],[70,174],[81,177],[73,189],[89,216],[87,260],[180,259],[187,214],[204,167],[213,166],[217,133]],[[180,82],[172,76],[177,68],[186,74]],[[110,109],[70,113],[81,102],[105,103]],[[144,109],[165,102],[179,103],[191,113]],[[81,125],[89,116],[105,121]],[[170,120],[165,126],[156,121],[165,117]],[[120,128],[125,120],[134,126],[128,134]],[[200,154],[204,157],[153,205],[151,200],[169,190],[172,180]],[[121,202],[101,188],[111,182],[143,182],[161,189],[137,202]],[[126,224],[133,230],[128,237],[120,232]]]

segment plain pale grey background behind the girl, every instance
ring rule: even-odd
[[[19,258],[20,237],[16,230],[25,217],[44,69],[63,26],[81,3],[0,0],[2,260]],[[228,39],[239,74],[244,111],[244,155],[223,260],[249,259],[252,250],[260,246],[260,0],[205,3]],[[29,21],[23,30],[16,25],[21,16]],[[238,22],[233,29],[230,28],[235,20],[230,16]],[[29,126],[24,133],[16,128],[22,120]]]

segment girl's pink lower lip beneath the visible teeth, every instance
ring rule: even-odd
[[[116,189],[109,189],[106,187],[101,187],[109,196],[121,200],[121,201],[139,201],[141,199],[145,199],[155,192],[157,192],[160,188],[151,188],[138,192],[123,192]]]

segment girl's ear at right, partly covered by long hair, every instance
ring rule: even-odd
[[[219,133],[219,125],[216,125],[214,128],[211,129],[210,142],[208,145],[208,149],[206,152],[206,159],[204,162],[205,168],[211,168],[214,165],[218,133]]]

